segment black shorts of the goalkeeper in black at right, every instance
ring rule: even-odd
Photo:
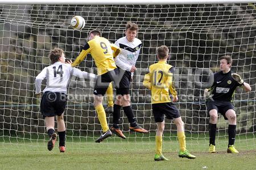
[[[231,104],[230,101],[207,100],[206,104],[208,113],[210,112],[210,110],[216,109],[218,113],[224,116],[225,120],[228,120],[228,118],[226,118],[225,116],[226,111],[228,111],[229,109],[234,110],[234,106]]]

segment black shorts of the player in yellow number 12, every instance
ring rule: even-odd
[[[166,115],[166,118],[171,120],[180,117],[179,110],[171,102],[152,104],[152,110],[156,123],[164,121],[164,114]]]

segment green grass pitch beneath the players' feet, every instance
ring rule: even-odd
[[[255,169],[254,138],[238,138],[237,155],[226,153],[225,138],[217,139],[216,154],[208,154],[207,143],[205,139],[187,139],[187,149],[197,156],[189,160],[177,156],[176,139],[166,138],[163,154],[170,160],[155,162],[154,139],[127,142],[114,137],[102,143],[67,142],[65,153],[56,146],[48,151],[47,141],[5,139],[0,142],[0,169]]]

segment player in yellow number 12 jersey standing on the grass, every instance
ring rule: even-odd
[[[181,120],[179,110],[171,102],[178,100],[174,87],[174,67],[167,64],[169,49],[166,45],[157,48],[158,63],[149,67],[149,73],[144,76],[143,85],[151,90],[151,103],[154,119],[157,124],[155,137],[155,161],[168,160],[162,155],[162,135],[164,131],[164,115],[174,120],[177,126],[177,137],[179,141],[179,157],[195,159],[196,156],[189,154],[185,144],[184,122]],[[170,90],[170,92],[169,92]]]

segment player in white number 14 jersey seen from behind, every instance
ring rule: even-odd
[[[49,53],[52,65],[45,67],[41,73],[36,76],[35,88],[36,95],[41,94],[41,84],[43,79],[47,79],[46,88],[44,88],[40,111],[42,112],[46,123],[46,130],[49,135],[48,150],[51,151],[55,145],[57,134],[54,128],[54,117],[57,120],[57,131],[59,134],[59,150],[65,152],[65,123],[63,114],[67,105],[67,86],[71,75],[79,78],[94,78],[94,74],[86,73],[73,68],[70,61],[65,63],[65,55],[62,49],[55,48]]]

